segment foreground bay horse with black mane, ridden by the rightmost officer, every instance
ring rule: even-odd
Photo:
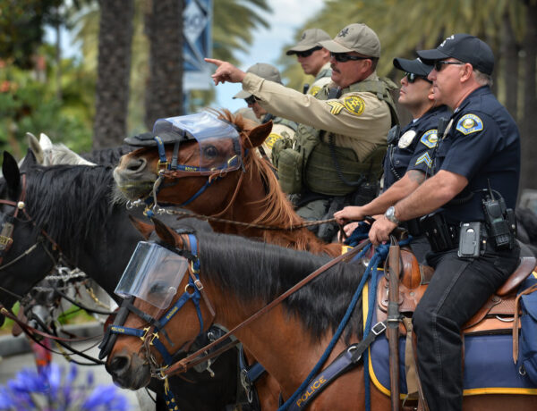
[[[158,244],[168,250],[190,250],[187,236],[178,234],[165,224],[156,224]],[[200,300],[204,324],[214,321],[233,329],[244,319],[266,306],[271,300],[328,262],[326,256],[278,247],[242,237],[217,234],[196,234],[198,244],[199,279],[206,298]],[[191,270],[189,268],[189,270]],[[265,366],[281,388],[284,399],[290,398],[322,355],[328,341],[353,298],[362,278],[360,263],[337,264],[283,303],[274,307],[253,323],[234,333],[244,348]],[[185,273],[180,290],[170,304],[188,289],[190,273]],[[151,282],[149,281],[149,284]],[[151,288],[152,289],[152,288]],[[209,303],[207,302],[209,301]],[[149,305],[141,298],[133,302],[142,312],[159,318],[166,311]],[[209,305],[212,306],[209,309]],[[148,326],[138,315],[130,314],[124,327],[142,329]],[[192,304],[185,304],[166,323],[166,333],[176,346],[188,344],[200,332],[200,319]],[[362,300],[354,308],[345,333],[337,342],[331,362],[349,342],[362,338]],[[166,340],[162,340],[166,345]],[[144,345],[140,339],[120,335],[108,356],[107,367],[124,367],[129,373],[150,373],[146,356],[159,358],[158,351]],[[391,409],[388,396],[371,384],[371,410]],[[363,365],[342,374],[313,399],[308,409],[365,409]],[[535,409],[536,396],[480,395],[465,397],[465,410]]]

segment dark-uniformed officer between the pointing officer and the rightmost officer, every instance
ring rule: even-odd
[[[437,126],[440,118],[448,119],[451,115],[447,105],[438,105],[435,101],[432,81],[427,79],[432,66],[422,63],[418,58],[406,60],[396,58],[396,69],[405,71],[399,90],[399,104],[405,106],[412,114],[413,120],[403,130],[398,126],[388,134],[388,153],[384,157],[384,192],[365,206],[346,206],[334,214],[339,224],[348,221],[362,221],[366,215],[383,214],[417,189],[425,178],[431,174],[431,156],[437,145]],[[345,233],[350,235],[356,223],[347,224]],[[423,261],[430,250],[425,239],[413,221],[409,231],[413,234],[413,251],[418,261]]]

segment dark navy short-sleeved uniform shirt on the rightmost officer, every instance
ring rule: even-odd
[[[483,221],[480,190],[488,188],[488,181],[505,198],[507,207],[515,209],[520,135],[507,109],[483,86],[465,98],[452,119],[446,138],[437,147],[434,169],[465,176],[468,186],[444,206],[447,222]]]

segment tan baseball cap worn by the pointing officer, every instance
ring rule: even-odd
[[[379,37],[363,23],[349,24],[333,40],[320,41],[319,44],[331,53],[356,52],[368,57],[380,57]]]

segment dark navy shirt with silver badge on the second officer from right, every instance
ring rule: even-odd
[[[407,124],[401,130],[401,136],[393,146],[388,147],[384,157],[384,189],[388,189],[396,180],[400,180],[409,170],[430,172],[432,151],[436,147],[437,128],[440,117],[449,118],[451,111],[446,105],[440,105],[424,113],[415,122]]]

